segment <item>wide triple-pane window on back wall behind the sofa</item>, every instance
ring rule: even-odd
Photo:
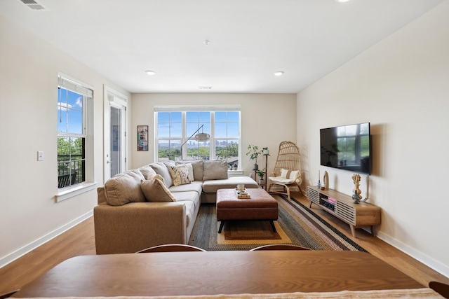
[[[240,168],[240,111],[222,109],[156,107],[157,160],[226,160]],[[210,139],[197,141],[199,133],[210,134]]]

